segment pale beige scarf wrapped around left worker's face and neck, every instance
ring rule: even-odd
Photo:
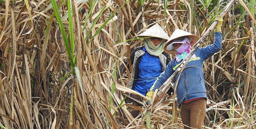
[[[161,41],[160,44],[158,44],[157,46],[155,46],[150,38],[146,38],[144,39],[144,45],[146,47],[146,50],[148,51],[148,53],[150,55],[153,55],[153,56],[160,56],[163,52],[163,47],[165,47],[165,44],[163,43],[163,40]]]

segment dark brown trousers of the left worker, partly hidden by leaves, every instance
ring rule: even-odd
[[[130,97],[142,102],[141,96],[131,94]],[[131,103],[132,105],[135,105],[135,106],[138,106],[138,107],[142,106],[141,104],[137,103],[136,101],[134,101],[132,99],[128,99],[128,101],[126,103]],[[136,118],[140,113],[139,110],[136,110],[132,107],[128,107],[127,109],[128,109],[128,111],[130,111],[130,113],[132,114],[132,117],[134,117],[134,118]]]

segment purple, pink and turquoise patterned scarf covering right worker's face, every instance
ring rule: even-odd
[[[175,51],[177,52],[175,56],[176,61],[179,62],[180,60],[183,60],[188,56],[191,51],[191,45],[190,43],[182,43],[179,48],[175,49]],[[193,58],[196,58],[195,54],[193,54],[193,56],[191,57],[191,59]]]

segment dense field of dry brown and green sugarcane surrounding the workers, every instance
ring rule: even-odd
[[[148,98],[130,87],[137,59],[130,57],[154,25],[167,34],[163,45],[176,29],[198,39]],[[0,128],[190,128],[174,81],[198,49],[215,44],[216,26],[221,49],[200,69],[202,129],[256,129],[255,0],[0,0]]]

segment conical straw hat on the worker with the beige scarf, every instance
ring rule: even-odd
[[[138,35],[138,37],[156,37],[162,38],[165,40],[169,39],[169,36],[165,31],[156,23],[155,25],[151,26],[145,32]]]

